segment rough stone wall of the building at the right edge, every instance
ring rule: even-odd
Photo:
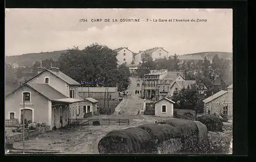
[[[227,103],[222,103],[228,101],[228,93],[212,100],[208,103],[204,103],[204,113],[207,114],[208,110],[210,113],[216,113],[218,115],[223,114],[223,107],[227,106]],[[212,106],[212,109],[211,109]]]

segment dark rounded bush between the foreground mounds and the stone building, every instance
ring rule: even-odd
[[[197,118],[197,121],[206,125],[208,131],[222,131],[223,123],[217,116],[202,115]]]

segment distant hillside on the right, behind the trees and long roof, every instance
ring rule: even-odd
[[[216,54],[219,56],[219,58],[223,59],[232,59],[233,57],[232,52],[199,52],[186,54],[185,56],[201,56],[203,58],[207,57],[207,59],[212,60]]]

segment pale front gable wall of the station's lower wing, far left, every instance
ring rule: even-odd
[[[34,122],[43,121],[48,123],[48,99],[40,94],[37,94],[37,92],[30,89],[28,86],[19,89],[17,92],[6,98],[5,119],[9,119],[10,112],[12,112],[14,113],[15,118],[19,119],[20,121],[20,110],[23,109],[23,93],[26,95],[25,107],[33,110]]]

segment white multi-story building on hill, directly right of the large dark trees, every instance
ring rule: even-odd
[[[128,49],[128,47],[120,47],[117,49],[114,49],[114,51],[116,51],[117,54],[117,61],[118,61],[118,65],[121,65],[123,63],[126,63],[127,65],[130,65],[132,63],[132,61],[134,60],[134,52],[132,52],[131,50]]]

